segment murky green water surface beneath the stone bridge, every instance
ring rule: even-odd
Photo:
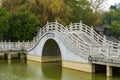
[[[60,62],[0,60],[0,80],[120,80],[120,76],[106,77],[105,73],[70,70],[62,68]]]

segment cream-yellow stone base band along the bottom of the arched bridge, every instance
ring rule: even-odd
[[[61,61],[61,58],[59,56],[42,56],[41,57],[41,56],[30,55],[30,54],[27,54],[27,59],[31,60],[31,61],[36,61],[36,62]],[[88,63],[62,60],[62,67],[79,70],[79,71],[84,71],[84,72],[88,72],[88,73],[95,72],[95,65],[88,64]]]

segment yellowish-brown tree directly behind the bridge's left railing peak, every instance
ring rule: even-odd
[[[47,21],[55,21],[62,24],[69,23],[71,8],[64,3],[64,0],[30,0],[28,6],[31,11],[39,17],[41,26]]]

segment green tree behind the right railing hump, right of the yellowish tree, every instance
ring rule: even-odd
[[[80,20],[91,26],[97,26],[101,22],[101,14],[96,14],[91,8],[88,0],[65,0],[65,3],[72,8],[70,21],[80,22]]]

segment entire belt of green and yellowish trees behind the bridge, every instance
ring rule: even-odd
[[[32,40],[47,21],[63,25],[80,22],[89,26],[110,25],[115,36],[120,36],[120,9],[102,12],[105,0],[2,0],[0,8],[0,40]],[[115,14],[113,14],[115,13]],[[113,18],[111,18],[113,17]],[[109,21],[111,18],[111,21]],[[113,19],[113,20],[112,20]],[[104,21],[103,21],[104,20]]]

